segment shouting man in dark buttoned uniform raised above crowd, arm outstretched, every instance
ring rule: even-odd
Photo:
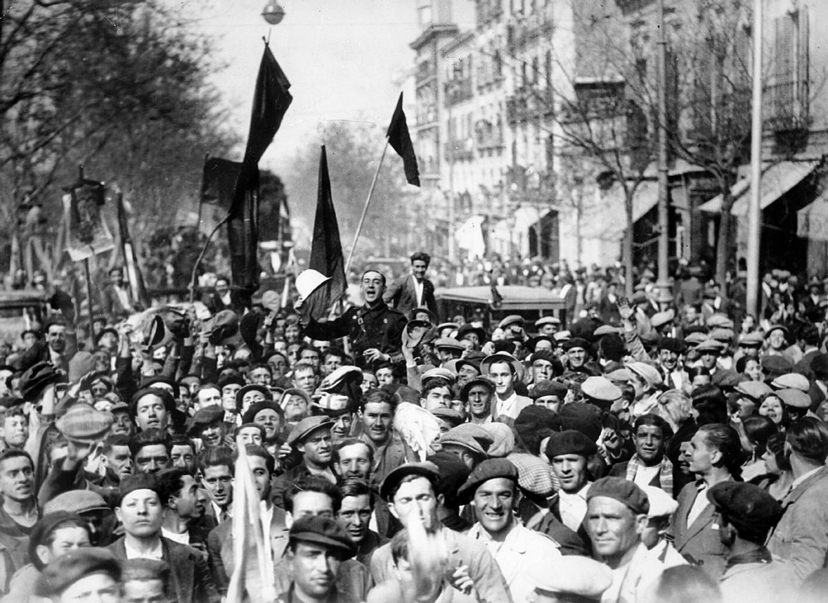
[[[302,301],[296,311],[305,335],[315,340],[335,340],[348,336],[356,364],[360,368],[374,362],[402,362],[402,330],[406,317],[383,302],[385,277],[376,270],[366,270],[360,278],[359,289],[365,305],[350,307],[335,321],[317,322]]]

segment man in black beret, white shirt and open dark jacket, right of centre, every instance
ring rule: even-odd
[[[587,466],[590,456],[597,454],[598,446],[589,437],[573,429],[553,433],[546,443],[546,458],[561,483],[549,506],[549,512],[537,526],[557,543],[575,543],[573,533],[580,538],[583,548],[570,553],[590,554],[590,537],[582,523],[586,514],[586,492],[590,489]]]

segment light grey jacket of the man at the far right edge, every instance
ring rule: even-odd
[[[782,499],[782,519],[768,538],[774,559],[791,565],[802,581],[828,567],[828,469],[813,475]]]

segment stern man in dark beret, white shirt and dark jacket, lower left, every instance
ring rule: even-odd
[[[161,489],[152,474],[132,475],[121,482],[115,515],[124,535],[107,548],[118,560],[155,559],[170,565],[176,601],[218,603],[219,593],[200,552],[161,536]]]

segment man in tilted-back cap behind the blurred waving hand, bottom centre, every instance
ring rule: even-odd
[[[512,601],[503,574],[487,548],[465,534],[445,528],[437,519],[439,480],[440,473],[434,463],[405,463],[388,474],[379,494],[403,528],[410,529],[410,523],[418,521],[426,533],[445,541],[449,552],[446,577],[450,581],[468,576],[480,601]],[[386,543],[373,552],[371,576],[379,584],[391,578],[392,572],[391,543]]]

